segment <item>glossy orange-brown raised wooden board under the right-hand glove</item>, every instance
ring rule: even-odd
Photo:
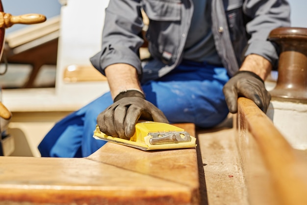
[[[263,183],[262,189],[267,189],[268,186],[272,186],[272,188],[268,189],[269,192],[264,195],[276,194],[274,204],[306,205],[306,161],[288,144],[275,128],[271,119],[247,98],[239,98],[238,100],[237,129],[238,136],[242,138],[239,146],[244,143],[253,144],[248,138],[248,135],[252,136],[263,163],[267,167],[269,176],[265,179],[266,183]],[[245,160],[243,159],[243,163],[251,159],[248,155],[242,155],[242,157],[246,157]],[[257,169],[257,166],[261,165],[254,164],[253,167]],[[245,174],[248,177],[248,173],[245,172]],[[272,184],[269,184],[270,181]],[[264,195],[263,197],[265,197]]]

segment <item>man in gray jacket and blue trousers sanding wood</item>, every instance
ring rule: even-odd
[[[142,9],[151,58],[141,61]],[[289,27],[286,0],[110,0],[102,50],[90,60],[110,92],[65,117],[45,136],[42,156],[85,157],[105,143],[96,124],[129,139],[139,119],[209,128],[245,96],[266,112],[264,80],[278,63],[272,29]]]

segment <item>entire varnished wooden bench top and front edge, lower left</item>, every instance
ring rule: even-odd
[[[0,157],[0,205],[197,205],[196,150],[107,143],[87,158]]]

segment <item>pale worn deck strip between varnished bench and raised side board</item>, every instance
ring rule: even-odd
[[[234,129],[201,129],[197,130],[197,136],[200,148],[198,157],[202,157],[205,180],[205,187],[201,189],[204,201],[208,205],[250,205]]]

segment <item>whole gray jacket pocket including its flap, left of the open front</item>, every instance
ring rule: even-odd
[[[150,22],[146,32],[149,51],[155,59],[172,64],[180,44],[181,0],[144,0]]]

